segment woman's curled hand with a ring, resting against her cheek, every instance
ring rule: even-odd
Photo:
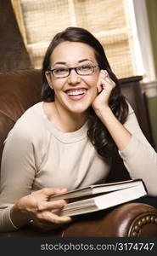
[[[109,108],[109,96],[111,91],[115,88],[115,82],[109,78],[109,74],[106,70],[100,71],[97,88],[98,96],[96,96],[93,102],[93,109],[96,113],[106,107]]]

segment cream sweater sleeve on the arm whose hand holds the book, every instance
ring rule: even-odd
[[[31,193],[35,176],[33,145],[16,130],[8,137],[3,150],[0,185],[0,231],[15,230],[9,218],[10,207],[20,197]],[[24,157],[25,156],[25,157]]]

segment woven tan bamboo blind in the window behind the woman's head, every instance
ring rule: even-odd
[[[129,0],[18,1],[22,17],[20,27],[34,67],[42,67],[43,55],[57,32],[67,26],[81,26],[103,44],[110,66],[118,78],[137,75],[127,13]]]

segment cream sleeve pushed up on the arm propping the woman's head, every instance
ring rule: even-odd
[[[149,195],[157,195],[157,153],[141,131],[135,113],[129,106],[125,127],[132,133],[126,148],[119,152],[132,178],[143,178]]]

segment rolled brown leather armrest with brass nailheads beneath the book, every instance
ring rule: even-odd
[[[64,230],[63,236],[157,236],[157,209],[142,203],[126,203],[77,219]]]

